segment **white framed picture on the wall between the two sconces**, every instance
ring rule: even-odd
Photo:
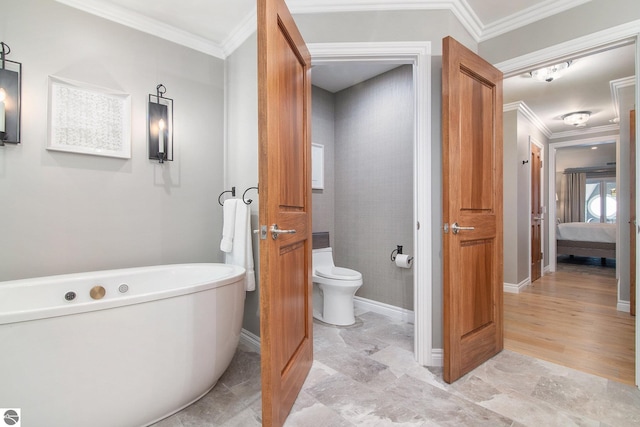
[[[131,158],[131,96],[49,76],[47,150]]]

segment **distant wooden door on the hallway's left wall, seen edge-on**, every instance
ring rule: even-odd
[[[531,281],[542,277],[542,200],[540,147],[531,144]]]

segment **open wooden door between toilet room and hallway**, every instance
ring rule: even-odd
[[[502,73],[443,40],[444,372],[503,348]],[[459,227],[459,228],[458,228]]]

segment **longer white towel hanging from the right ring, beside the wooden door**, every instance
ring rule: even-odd
[[[233,232],[233,248],[225,254],[225,263],[243,267],[246,270],[245,290],[255,291],[256,273],[253,270],[253,244],[251,234],[251,211],[249,206],[238,200]]]

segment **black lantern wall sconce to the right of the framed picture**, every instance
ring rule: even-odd
[[[149,94],[149,159],[173,161],[173,99],[165,98],[161,83],[156,94]]]

